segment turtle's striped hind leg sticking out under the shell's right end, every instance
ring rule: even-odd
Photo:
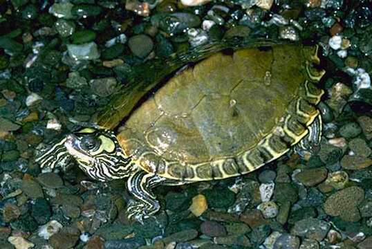
[[[295,145],[295,152],[301,157],[315,154],[319,151],[320,139],[322,138],[322,118],[320,115],[308,127],[308,134]]]

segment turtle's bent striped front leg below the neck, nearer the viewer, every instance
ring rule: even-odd
[[[141,169],[129,176],[127,187],[130,194],[136,197],[129,202],[127,213],[129,218],[134,218],[142,223],[143,219],[155,214],[160,209],[160,204],[152,192],[152,188],[160,185],[164,178],[147,173]]]

